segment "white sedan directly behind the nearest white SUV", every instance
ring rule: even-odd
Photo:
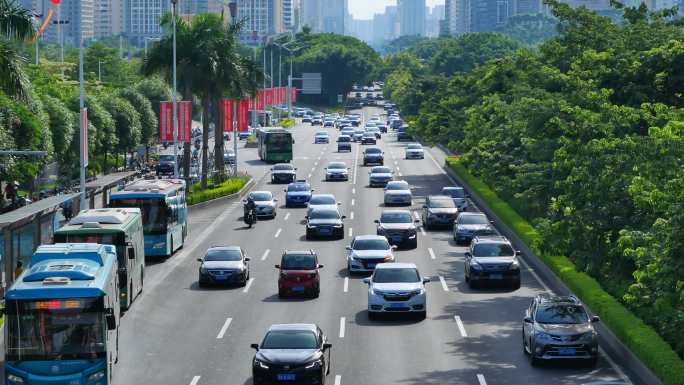
[[[351,246],[347,246],[347,270],[349,274],[368,273],[386,262],[394,262],[396,246],[390,245],[387,238],[381,235],[359,235],[354,237]]]

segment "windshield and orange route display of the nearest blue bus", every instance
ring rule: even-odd
[[[107,356],[102,298],[7,301],[9,361]]]

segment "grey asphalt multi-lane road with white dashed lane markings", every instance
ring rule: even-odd
[[[364,116],[380,112],[366,108]],[[545,286],[524,268],[518,290],[471,290],[463,279],[465,247],[456,246],[447,231],[418,233],[418,247],[398,250],[398,261],[415,263],[432,277],[427,288],[427,319],[369,321],[367,286],[349,277],[345,246],[351,237],[375,234],[383,210],[382,189],[369,188],[368,168],[360,165],[361,145],[337,153],[336,129],[331,143],[313,144],[320,127],[293,128],[298,177],[308,179],[316,193],[335,194],[346,214],[343,240],[305,240],[306,209],[284,207],[284,185],[270,184],[268,169],[255,149],[243,149],[241,166],[249,165],[257,190],[279,199],[278,215],[247,229],[240,202],[193,209],[190,234],[183,250],[150,264],[144,294],[122,319],[115,384],[251,384],[251,343],[259,343],[274,323],[316,323],[332,348],[329,384],[581,384],[619,379],[620,369],[602,356],[594,369],[549,365],[531,367],[522,352],[523,310]],[[231,144],[232,145],[232,144]],[[396,179],[413,187],[411,209],[422,198],[453,182],[442,172],[442,159],[430,152],[423,160],[404,160],[404,144],[386,134],[378,145]],[[324,167],[344,161],[349,182],[325,182]],[[251,279],[245,287],[199,288],[198,262],[212,245],[239,245],[251,257]],[[325,265],[321,295],[316,299],[279,299],[274,264],[284,249],[314,249]],[[526,267],[524,265],[523,267]],[[618,360],[619,361],[619,360]],[[619,362],[618,362],[619,363]]]

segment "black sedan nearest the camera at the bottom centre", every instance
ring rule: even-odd
[[[272,325],[252,360],[252,383],[323,384],[330,374],[332,344],[314,324]]]

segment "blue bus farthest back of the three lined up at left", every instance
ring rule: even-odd
[[[145,257],[170,257],[188,234],[188,204],[182,179],[144,179],[112,193],[111,208],[137,207],[142,212]]]

